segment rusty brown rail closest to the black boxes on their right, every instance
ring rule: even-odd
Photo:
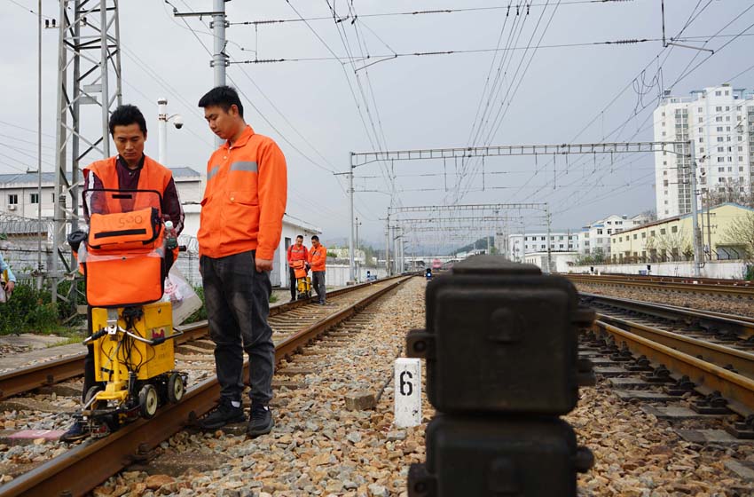
[[[727,400],[728,408],[735,413],[742,416],[754,414],[754,380],[601,320],[594,321],[592,329],[599,334],[611,335],[617,345],[624,344],[633,354],[664,365],[674,377],[688,376],[695,390],[703,395],[719,391]]]

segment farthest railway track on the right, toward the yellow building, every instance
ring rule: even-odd
[[[704,280],[652,278],[642,276],[567,274],[569,280],[596,288],[635,288],[656,292],[724,296],[733,299],[754,299],[754,285],[741,280]],[[725,283],[727,281],[727,283]]]

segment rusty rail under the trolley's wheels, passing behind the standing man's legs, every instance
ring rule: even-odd
[[[397,288],[405,280],[404,276],[393,283],[384,286],[370,296],[351,304],[350,307],[363,309],[374,299]],[[372,285],[379,285],[381,280]],[[363,288],[363,286],[361,286]],[[286,358],[295,350],[302,348],[313,340],[316,335],[336,326],[343,320],[350,318],[353,312],[337,312],[314,323],[295,334],[298,338],[287,338],[275,346],[275,359]],[[324,322],[327,324],[325,325]],[[248,361],[244,361],[244,377],[248,377]],[[94,440],[88,444],[75,446],[65,454],[61,454],[50,461],[28,471],[0,486],[0,497],[12,496],[40,496],[49,497],[83,495],[101,484],[131,463],[148,458],[150,451],[163,440],[180,430],[185,429],[187,420],[193,415],[199,417],[216,406],[220,395],[220,385],[217,378],[209,378],[204,382],[187,390],[183,399],[177,404],[169,404],[158,410],[151,420],[140,419],[115,431],[106,438]]]

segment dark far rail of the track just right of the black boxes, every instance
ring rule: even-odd
[[[754,318],[747,316],[689,309],[688,307],[669,304],[656,304],[616,296],[601,296],[583,292],[579,293],[579,295],[585,297],[589,303],[604,303],[612,307],[624,309],[625,311],[640,312],[685,324],[696,324],[711,332],[729,332],[739,335],[742,339],[748,340],[754,337]]]

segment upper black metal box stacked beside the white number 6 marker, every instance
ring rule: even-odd
[[[476,256],[427,287],[427,329],[406,336],[409,357],[427,359],[429,401],[444,413],[566,414],[578,386],[593,384],[579,361],[577,327],[593,312],[576,288],[537,266]]]

